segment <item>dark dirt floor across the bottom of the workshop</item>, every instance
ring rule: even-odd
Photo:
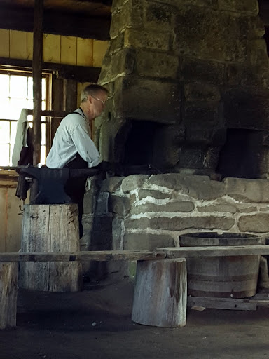
[[[17,327],[0,331],[0,359],[269,358],[269,309],[189,310],[186,327],[132,323],[133,284],[83,292],[20,290]]]

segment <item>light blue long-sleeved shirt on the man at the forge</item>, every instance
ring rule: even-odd
[[[63,168],[79,154],[88,167],[102,162],[95,143],[90,138],[90,126],[81,109],[63,118],[53,139],[53,146],[46,158],[48,168]]]

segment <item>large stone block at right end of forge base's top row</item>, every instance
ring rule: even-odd
[[[226,194],[236,201],[249,203],[269,203],[268,179],[223,179]]]

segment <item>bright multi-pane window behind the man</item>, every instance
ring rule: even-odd
[[[50,74],[42,78],[42,109],[49,109]],[[12,165],[17,121],[22,109],[33,109],[33,79],[30,72],[0,70],[0,165]],[[33,116],[28,116],[32,127]],[[41,163],[49,145],[50,122],[41,118]]]

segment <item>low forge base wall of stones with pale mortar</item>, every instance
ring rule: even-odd
[[[195,231],[269,235],[268,179],[218,182],[181,174],[111,177],[99,184],[95,210],[87,205],[91,197],[89,191],[83,216],[90,249],[174,247],[179,235]]]

